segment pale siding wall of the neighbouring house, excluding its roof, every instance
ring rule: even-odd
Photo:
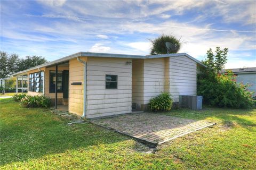
[[[256,95],[256,73],[251,74],[237,74],[236,81],[238,83],[249,83],[249,91],[254,92],[253,96]]]

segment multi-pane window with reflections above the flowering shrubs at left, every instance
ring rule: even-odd
[[[43,92],[44,72],[29,74],[28,91]]]

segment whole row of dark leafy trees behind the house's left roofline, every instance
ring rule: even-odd
[[[26,56],[20,58],[17,54],[8,54],[0,51],[0,78],[7,78],[10,75],[31,67],[44,64],[47,62],[42,56]]]

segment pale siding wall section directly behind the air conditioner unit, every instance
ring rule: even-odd
[[[196,95],[196,62],[186,56],[170,57],[170,94],[174,101],[179,95]]]

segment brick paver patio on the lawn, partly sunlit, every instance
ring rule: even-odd
[[[91,122],[153,145],[215,124],[204,120],[195,121],[152,113],[127,114],[95,119]]]

